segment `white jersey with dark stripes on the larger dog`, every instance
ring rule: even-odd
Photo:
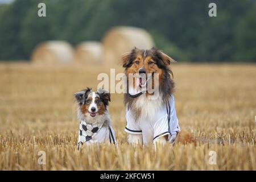
[[[156,138],[163,137],[164,135],[168,135],[168,141],[173,143],[177,132],[180,131],[174,96],[171,95],[169,102],[163,104],[152,116],[153,118],[141,115],[135,121],[131,111],[126,108],[127,125],[125,131],[129,134],[142,134],[143,144],[150,144]]]

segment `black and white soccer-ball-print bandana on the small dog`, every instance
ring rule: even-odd
[[[78,143],[83,143],[92,139],[98,133],[98,131],[100,131],[102,125],[103,123],[88,124],[84,121],[84,119],[81,119]]]

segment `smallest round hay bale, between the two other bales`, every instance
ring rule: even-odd
[[[101,63],[102,44],[100,42],[82,42],[76,47],[75,60],[81,64]]]

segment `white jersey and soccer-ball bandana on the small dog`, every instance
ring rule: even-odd
[[[87,124],[81,119],[77,148],[80,144],[93,143],[116,143],[115,133],[112,126],[104,126],[103,123]]]

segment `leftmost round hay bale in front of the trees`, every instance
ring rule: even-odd
[[[39,64],[68,64],[73,61],[73,48],[64,41],[39,44],[32,53],[32,61]]]

